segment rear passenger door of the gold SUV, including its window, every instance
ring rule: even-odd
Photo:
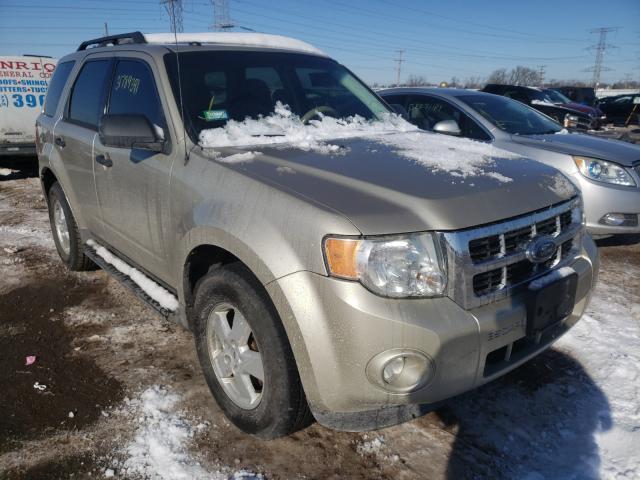
[[[73,190],[75,208],[84,224],[100,233],[100,210],[93,180],[94,141],[104,112],[111,55],[90,56],[80,67],[65,105],[65,113],[53,132],[55,155],[63,165]],[[69,194],[68,194],[69,195]]]

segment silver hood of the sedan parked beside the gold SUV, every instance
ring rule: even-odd
[[[521,136],[512,135],[515,143],[567,155],[583,155],[631,167],[640,160],[640,146],[619,140],[582,133]]]

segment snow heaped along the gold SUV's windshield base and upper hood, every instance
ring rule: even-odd
[[[500,182],[510,178],[492,171],[495,158],[520,158],[485,142],[425,133],[396,114],[379,120],[360,116],[337,119],[318,114],[317,120],[303,123],[287,105],[278,102],[275,111],[258,119],[229,120],[224,127],[203,130],[203,148],[282,145],[323,154],[340,153],[332,140],[367,138],[389,146],[398,155],[435,171],[454,176],[486,175]],[[252,152],[252,158],[256,155]]]

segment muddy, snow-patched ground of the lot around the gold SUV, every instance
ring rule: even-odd
[[[65,271],[38,180],[0,170],[0,478],[640,478],[640,238],[600,247],[588,316],[534,361],[407,424],[264,442],[188,332]]]

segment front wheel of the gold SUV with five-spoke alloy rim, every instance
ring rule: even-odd
[[[277,438],[311,423],[282,322],[244,265],[214,267],[198,282],[193,327],[209,389],[234,425],[261,438]]]

